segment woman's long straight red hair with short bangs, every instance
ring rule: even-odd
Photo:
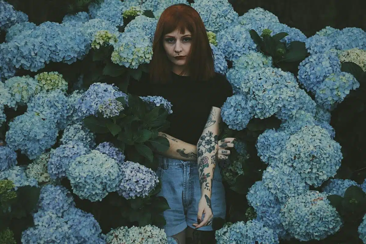
[[[166,8],[156,26],[153,40],[153,57],[149,65],[150,80],[166,83],[172,77],[172,63],[165,52],[163,41],[168,33],[179,29],[192,34],[191,50],[187,58],[187,71],[194,80],[208,80],[215,74],[213,52],[201,16],[189,5],[175,4]]]

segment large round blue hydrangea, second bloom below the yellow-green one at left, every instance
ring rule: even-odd
[[[56,143],[58,130],[55,123],[41,116],[26,112],[9,123],[5,142],[13,150],[36,158]]]

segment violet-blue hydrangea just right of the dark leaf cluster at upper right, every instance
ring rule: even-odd
[[[341,72],[340,61],[332,53],[310,55],[299,65],[298,79],[306,90],[315,93],[321,82],[330,74]]]

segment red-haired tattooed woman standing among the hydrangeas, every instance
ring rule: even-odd
[[[159,132],[170,147],[159,155],[159,193],[171,209],[164,230],[179,244],[186,230],[212,230],[213,216],[225,218],[225,191],[217,158],[227,159],[234,138],[217,141],[221,106],[232,95],[223,75],[214,72],[213,53],[201,17],[176,4],[160,16],[153,41],[149,77],[131,82],[128,92],[156,95],[173,105],[170,127]],[[190,235],[187,233],[187,235]]]

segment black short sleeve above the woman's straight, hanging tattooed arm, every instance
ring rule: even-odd
[[[216,73],[216,86],[213,86],[214,92],[212,106],[221,108],[228,97],[232,96],[232,87],[224,75]]]

